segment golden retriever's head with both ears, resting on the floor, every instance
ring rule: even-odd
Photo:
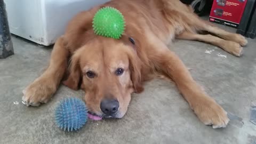
[[[93,38],[73,53],[69,73],[63,83],[78,89],[82,79],[86,105],[91,114],[100,117],[122,118],[131,93],[143,90],[141,63],[127,37]]]

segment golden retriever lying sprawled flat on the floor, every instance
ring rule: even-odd
[[[94,14],[106,6],[124,15],[126,29],[121,39],[94,34]],[[174,38],[210,43],[237,57],[247,44],[243,36],[201,20],[179,0],[114,0],[78,13],[68,23],[53,47],[49,67],[23,90],[22,100],[27,106],[46,103],[63,81],[73,90],[85,91],[93,119],[122,118],[131,94],[142,92],[143,82],[154,75],[162,75],[175,82],[204,124],[225,127],[229,122],[226,111],[197,85],[166,46]]]

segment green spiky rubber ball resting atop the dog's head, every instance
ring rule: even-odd
[[[103,7],[93,18],[94,33],[119,39],[124,33],[125,21],[121,12],[113,7]]]

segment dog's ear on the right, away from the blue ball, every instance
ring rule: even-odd
[[[133,89],[136,93],[142,92],[144,88],[141,82],[141,61],[135,52],[129,54],[129,69],[131,71]]]

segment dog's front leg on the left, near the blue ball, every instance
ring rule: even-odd
[[[67,69],[68,54],[63,38],[60,37],[53,47],[49,67],[23,90],[22,101],[27,106],[39,106],[51,99]]]

